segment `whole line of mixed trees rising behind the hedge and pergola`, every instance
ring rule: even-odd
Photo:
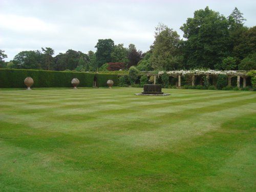
[[[22,51],[13,60],[0,50],[0,68],[42,69],[55,71],[115,71],[136,66],[140,71],[216,69],[256,69],[256,26],[244,26],[235,8],[228,17],[206,7],[195,11],[181,26],[182,39],[176,31],[159,23],[155,41],[146,53],[135,45],[115,45],[112,39],[99,39],[96,52],[87,54],[69,49],[55,57],[52,48]]]

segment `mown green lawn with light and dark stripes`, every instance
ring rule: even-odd
[[[255,191],[256,93],[0,89],[0,191]]]

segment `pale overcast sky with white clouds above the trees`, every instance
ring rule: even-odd
[[[115,45],[134,44],[146,52],[158,23],[182,37],[186,19],[206,6],[224,16],[237,7],[245,26],[255,26],[254,0],[0,0],[0,49],[9,61],[20,51],[41,47],[55,55],[68,49],[88,53],[96,51],[98,39],[111,38]]]

